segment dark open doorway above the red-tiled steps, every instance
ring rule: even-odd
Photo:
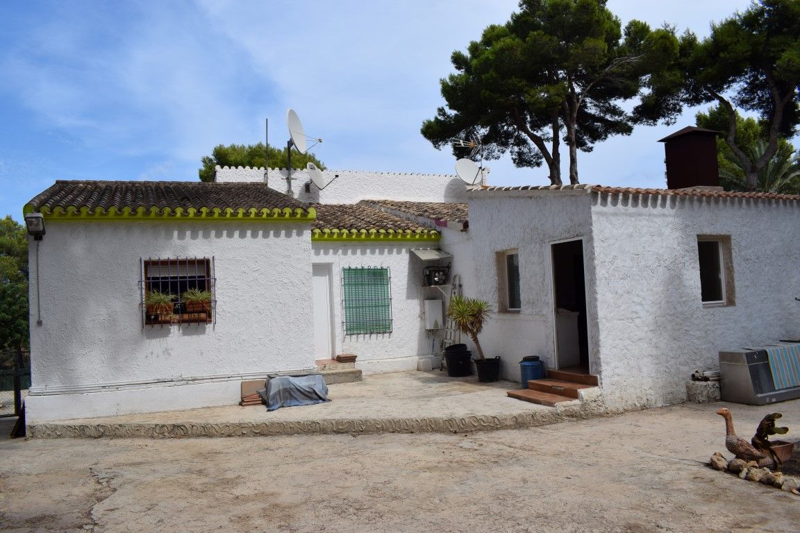
[[[555,315],[556,368],[588,374],[589,336],[586,330],[586,275],[583,240],[551,245]]]

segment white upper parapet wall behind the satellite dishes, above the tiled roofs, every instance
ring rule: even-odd
[[[264,169],[250,167],[217,167],[217,181],[264,181]],[[292,191],[300,201],[320,204],[354,204],[361,200],[398,201],[466,201],[466,185],[458,177],[449,174],[417,174],[368,172],[361,170],[325,170],[325,181],[331,181],[325,189],[310,186],[306,170],[292,171]],[[286,169],[269,169],[267,183],[271,189],[286,192]]]

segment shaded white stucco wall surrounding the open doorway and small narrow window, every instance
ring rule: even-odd
[[[587,287],[590,367],[598,366],[593,343],[594,265],[590,249],[590,197],[585,191],[476,191],[468,194],[470,239],[474,254],[474,292],[498,308],[496,253],[517,249],[519,253],[520,312],[499,312],[486,323],[479,337],[486,356],[500,356],[502,376],[519,380],[523,356],[540,356],[554,368],[554,294],[550,243],[583,238]]]

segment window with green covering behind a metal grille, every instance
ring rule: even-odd
[[[389,268],[342,268],[342,306],[346,335],[392,331],[390,280]]]

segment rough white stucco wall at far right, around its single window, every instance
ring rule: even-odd
[[[594,197],[601,376],[612,408],[686,400],[718,352],[800,336],[796,202]],[[730,235],[734,306],[703,308],[697,236]]]

